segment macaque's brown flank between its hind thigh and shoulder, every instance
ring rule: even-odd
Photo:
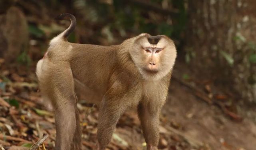
[[[115,50],[118,45],[72,44],[72,47],[69,62],[75,81],[82,84],[80,87],[88,99],[101,99],[109,85],[107,81],[117,67]],[[98,96],[92,98],[90,95]]]

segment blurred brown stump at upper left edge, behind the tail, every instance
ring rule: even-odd
[[[28,48],[28,24],[23,12],[15,6],[0,15],[0,22],[0,57],[12,63]]]

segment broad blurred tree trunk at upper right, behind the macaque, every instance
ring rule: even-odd
[[[250,102],[256,102],[255,4],[254,0],[189,0],[188,7],[187,61]]]

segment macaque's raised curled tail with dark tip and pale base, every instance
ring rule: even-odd
[[[69,34],[71,32],[73,32],[73,30],[75,29],[75,26],[76,26],[76,19],[75,19],[75,16],[71,15],[71,14],[68,14],[68,13],[65,13],[65,14],[61,14],[59,16],[57,16],[55,18],[55,20],[64,20],[64,19],[69,19],[70,20],[70,25],[69,27],[64,31],[62,32],[61,34],[59,34],[58,36],[56,36],[54,39],[52,39],[50,41],[50,45],[52,45],[53,43],[55,43],[56,41],[60,41],[60,40],[65,40],[67,41],[67,37],[69,36]]]

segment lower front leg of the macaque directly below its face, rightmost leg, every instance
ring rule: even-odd
[[[147,143],[147,150],[158,150],[160,112],[160,106],[153,106],[150,103],[139,104],[138,113],[141,120],[143,135]]]

